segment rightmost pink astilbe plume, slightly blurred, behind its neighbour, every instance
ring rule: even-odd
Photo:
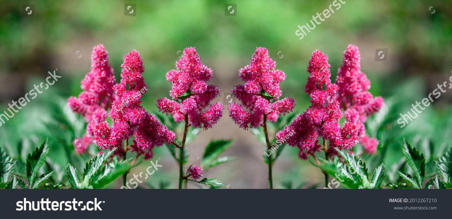
[[[358,126],[359,143],[368,154],[377,150],[378,140],[369,138],[364,123],[367,117],[378,112],[385,105],[382,97],[373,97],[370,80],[361,72],[361,56],[358,47],[350,44],[344,51],[344,62],[338,70],[336,84],[339,85],[337,99],[345,111],[345,119]],[[377,142],[377,143],[375,143]],[[377,144],[377,145],[376,145]]]

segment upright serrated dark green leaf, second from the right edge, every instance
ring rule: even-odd
[[[406,162],[408,163],[408,165],[410,165],[411,169],[414,172],[416,186],[414,186],[412,182],[410,183],[413,185],[413,187],[420,189],[422,187],[422,184],[424,183],[425,177],[424,154],[420,154],[418,150],[416,150],[414,147],[411,147],[410,143],[405,138],[403,139],[403,143],[403,153],[405,154]],[[400,176],[402,175],[400,174]]]

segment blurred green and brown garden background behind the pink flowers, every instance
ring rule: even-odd
[[[212,68],[210,84],[221,89],[221,97],[216,99],[220,102],[223,93],[243,84],[238,70],[250,62],[256,47],[267,47],[277,68],[287,75],[281,83],[282,97],[295,98],[295,111],[301,113],[309,106],[303,87],[312,51],[329,55],[334,80],[343,51],[353,43],[361,51],[362,70],[372,81],[370,91],[386,102],[386,107],[367,121],[367,133],[381,140],[376,154],[363,155],[369,172],[384,162],[389,168],[386,182],[400,180],[395,170],[404,168],[400,167],[400,145],[405,137],[425,154],[433,174],[433,159],[451,146],[452,91],[442,93],[404,128],[396,121],[399,113],[406,113],[412,103],[427,97],[452,75],[452,1],[344,1],[346,4],[299,40],[297,25],[310,22],[312,15],[327,9],[333,0],[1,0],[0,111],[33,89],[33,84],[45,81],[47,71],[58,69],[56,74],[62,77],[0,127],[0,146],[19,160],[15,173],[19,176],[24,174],[25,156],[46,137],[51,143],[46,165],[60,169],[52,180],[65,180],[62,169],[68,162],[83,168],[89,156],[75,154],[71,142],[83,134],[85,124],[65,105],[68,97],[81,92],[80,80],[89,71],[91,50],[99,43],[108,50],[117,81],[122,56],[133,49],[141,53],[149,87],[143,106],[154,114],[159,113],[156,99],[170,97],[171,84],[165,74],[175,68],[178,51],[185,47],[196,47],[202,63]],[[137,4],[136,16],[124,16],[124,3]],[[225,16],[226,3],[237,4],[237,16]],[[35,5],[34,17],[22,16],[23,4]],[[387,60],[376,62],[375,51],[381,48],[388,48]],[[272,133],[275,131],[273,127]],[[209,140],[221,138],[235,139],[223,154],[236,159],[209,169],[204,176],[218,177],[229,188],[268,188],[264,144],[250,130],[236,126],[227,107],[217,125],[188,144],[189,163],[202,157]],[[96,150],[91,145],[90,151]],[[354,150],[360,154],[362,148],[358,144]],[[140,187],[175,188],[176,161],[166,147],[154,152],[153,160],[161,158],[163,167]],[[322,172],[310,161],[298,159],[297,152],[286,147],[274,163],[275,187],[323,188]],[[147,163],[132,173],[145,171]],[[108,187],[120,186],[119,179]],[[198,185],[188,183],[188,187]]]

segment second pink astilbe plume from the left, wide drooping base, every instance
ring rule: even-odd
[[[115,153],[122,154],[122,142],[133,136],[130,150],[148,159],[152,157],[153,147],[174,141],[176,135],[140,105],[147,87],[141,75],[144,67],[138,51],[125,55],[121,67],[121,82],[113,86],[116,98],[109,113],[113,125],[109,127],[106,121],[95,123],[91,127],[93,141],[100,149],[118,148]]]

